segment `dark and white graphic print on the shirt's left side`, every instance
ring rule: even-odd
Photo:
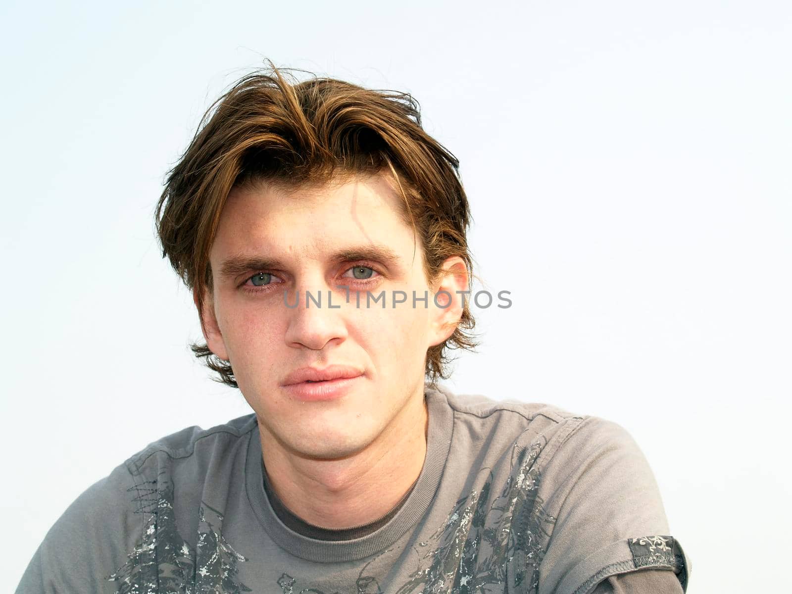
[[[247,559],[220,533],[223,514],[201,501],[197,551],[179,535],[173,516],[173,485],[147,481],[135,485],[135,513],[148,517],[143,538],[128,560],[107,577],[120,582],[116,594],[240,594],[251,592],[237,580],[237,564]]]

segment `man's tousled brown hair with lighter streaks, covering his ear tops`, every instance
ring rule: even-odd
[[[292,76],[289,83],[272,62],[269,67],[239,79],[209,107],[158,200],[162,257],[196,293],[201,326],[220,213],[231,188],[255,181],[295,187],[390,173],[402,195],[402,216],[423,242],[428,282],[451,256],[465,261],[472,279],[459,160],[424,131],[417,101],[409,93],[315,75],[303,82]],[[474,324],[466,299],[454,333],[426,353],[425,375],[433,386],[449,376],[448,348],[478,346],[469,332]],[[206,343],[190,346],[219,374],[216,381],[238,387],[229,362]]]

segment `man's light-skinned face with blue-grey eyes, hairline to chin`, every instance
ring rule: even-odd
[[[459,320],[454,291],[467,287],[447,287],[455,299],[437,307],[440,285],[428,285],[420,238],[399,204],[383,176],[321,188],[259,184],[228,196],[210,253],[204,334],[211,351],[230,360],[262,429],[292,453],[333,459],[371,444],[423,398],[426,351],[450,336],[444,324]],[[461,259],[450,261],[463,269]],[[306,291],[317,300],[321,293],[321,307],[306,306]],[[367,291],[372,298],[384,291],[386,307],[368,302]],[[406,303],[394,307],[394,291],[404,291]],[[428,304],[413,307],[413,291],[418,298],[427,291]],[[301,367],[329,365],[362,375],[329,400],[307,402],[284,386]]]

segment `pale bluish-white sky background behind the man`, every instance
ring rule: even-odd
[[[188,351],[153,220],[265,57],[412,93],[459,158],[477,272],[513,306],[474,310],[446,385],[627,428],[688,592],[788,581],[789,2],[73,4],[0,8],[6,583],[114,466],[250,412]]]

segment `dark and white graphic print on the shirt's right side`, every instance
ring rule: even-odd
[[[413,547],[417,554],[416,568],[406,583],[388,588],[388,592],[537,592],[539,565],[556,520],[545,512],[538,494],[541,473],[535,462],[543,447],[544,441],[536,441],[528,448],[518,447],[515,442],[516,461],[500,494],[490,499],[493,490],[490,473],[480,491],[474,490],[459,499],[444,525]],[[367,567],[373,561],[361,570],[348,592],[383,594],[376,577],[367,574]],[[277,584],[282,594],[331,594],[315,585],[298,584],[288,573]]]

